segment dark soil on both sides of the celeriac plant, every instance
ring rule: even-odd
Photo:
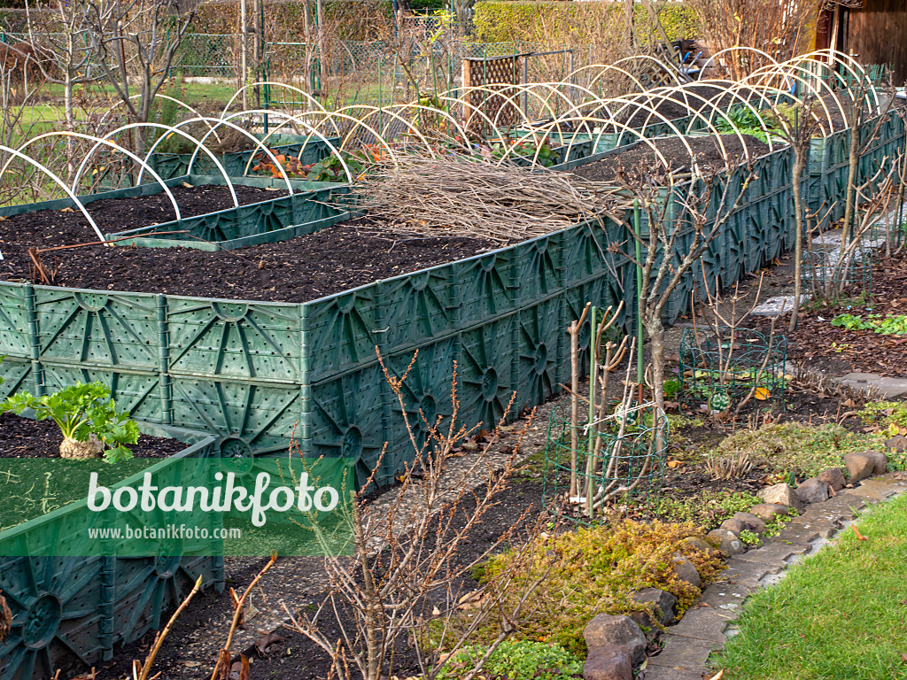
[[[63,434],[52,420],[0,413],[0,458],[59,458],[61,443]],[[186,443],[142,434],[129,448],[136,458],[166,458],[185,449]]]

